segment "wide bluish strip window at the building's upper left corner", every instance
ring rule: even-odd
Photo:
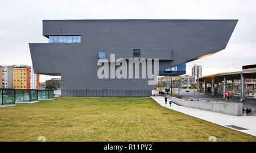
[[[49,43],[81,43],[81,36],[49,36]]]

